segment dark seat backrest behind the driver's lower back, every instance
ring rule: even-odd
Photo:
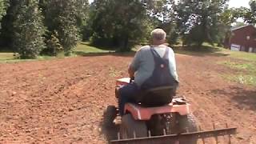
[[[161,86],[144,91],[140,102],[142,106],[163,106],[169,104],[173,96],[173,86]]]

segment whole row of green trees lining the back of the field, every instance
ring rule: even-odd
[[[70,54],[82,40],[128,51],[150,41],[160,27],[167,42],[222,45],[238,18],[256,22],[256,1],[250,8],[229,8],[228,0],[0,0],[1,46],[21,58]],[[238,23],[239,24],[239,23]]]

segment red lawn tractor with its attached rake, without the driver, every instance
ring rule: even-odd
[[[116,94],[120,86],[130,82],[130,78],[120,78],[116,82]],[[161,94],[168,87],[149,90],[146,94]],[[118,97],[118,95],[116,95]],[[118,115],[118,108],[108,106],[104,112],[105,124],[110,125],[114,119],[121,119],[117,139],[110,143],[156,143],[156,144],[196,144],[198,138],[235,134],[236,128],[198,130],[190,104],[186,98],[173,98],[172,102],[164,106],[148,107],[142,102],[127,103],[122,118]],[[204,141],[203,141],[204,142]]]

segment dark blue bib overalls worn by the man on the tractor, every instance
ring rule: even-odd
[[[177,81],[170,74],[170,65],[169,65],[169,48],[166,48],[164,56],[161,58],[157,51],[154,48],[150,48],[151,53],[154,57],[154,71],[150,78],[147,78],[145,82],[142,83],[141,87],[138,87],[134,82],[129,83],[126,86],[123,86],[119,89],[118,97],[118,107],[119,113],[124,114],[124,106],[127,102],[138,103],[142,100],[142,97],[139,96],[142,94],[142,91],[156,88],[159,86],[177,86]],[[146,98],[146,95],[143,99]],[[166,95],[166,98],[160,99],[161,103],[155,100],[155,98],[148,97],[146,101],[152,102],[154,104],[162,105],[171,102],[172,97]],[[159,100],[159,98],[158,98]],[[164,102],[162,102],[164,101]]]

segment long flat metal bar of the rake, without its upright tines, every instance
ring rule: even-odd
[[[205,130],[197,131],[191,133],[182,133],[182,134],[170,134],[170,135],[161,135],[161,136],[151,136],[146,138],[129,138],[129,139],[118,139],[110,141],[111,144],[148,144],[148,143],[158,143],[165,144],[178,142],[179,139],[188,139],[188,138],[212,138],[225,136],[230,134],[236,134],[237,128],[226,128],[226,129],[216,129],[216,130]]]

